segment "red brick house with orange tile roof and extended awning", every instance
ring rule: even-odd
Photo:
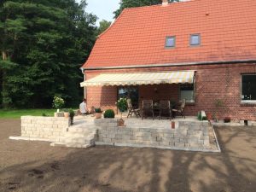
[[[125,9],[84,63],[89,106],[129,95],[186,99],[185,114],[256,119],[256,1],[191,0]]]

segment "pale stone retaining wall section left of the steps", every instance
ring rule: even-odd
[[[70,126],[70,119],[64,117],[21,117],[21,137],[41,138],[58,142]]]

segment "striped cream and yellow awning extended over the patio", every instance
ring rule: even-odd
[[[139,85],[139,84],[192,84],[195,71],[158,73],[102,73],[80,83],[84,86]]]

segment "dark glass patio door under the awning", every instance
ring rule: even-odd
[[[138,107],[139,105],[139,93],[137,86],[122,86],[118,87],[118,99],[119,98],[130,98],[133,107]]]

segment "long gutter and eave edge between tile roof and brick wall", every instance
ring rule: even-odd
[[[125,69],[125,68],[144,68],[144,67],[181,67],[181,66],[195,66],[195,65],[209,65],[209,64],[234,64],[242,62],[255,62],[256,59],[251,60],[231,60],[231,61],[199,61],[199,62],[182,62],[182,63],[164,63],[164,64],[148,64],[148,65],[132,65],[132,66],[116,66],[116,67],[88,67],[83,68],[84,71],[104,70],[104,69]]]

